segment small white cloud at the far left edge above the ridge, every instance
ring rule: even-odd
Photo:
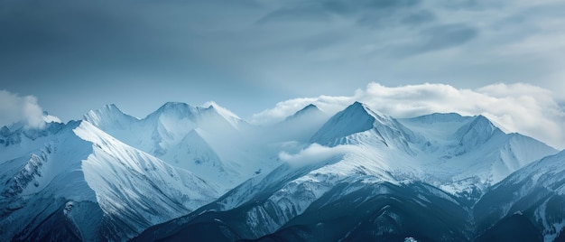
[[[26,127],[45,126],[42,107],[33,96],[20,97],[6,90],[0,90],[0,126],[23,122]]]

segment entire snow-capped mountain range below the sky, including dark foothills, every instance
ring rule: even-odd
[[[485,116],[107,105],[0,129],[0,240],[563,241],[564,167]]]

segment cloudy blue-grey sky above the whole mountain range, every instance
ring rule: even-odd
[[[260,123],[296,100],[363,98],[402,103],[373,105],[396,116],[485,114],[565,148],[563,13],[560,0],[0,0],[0,125],[210,100]]]

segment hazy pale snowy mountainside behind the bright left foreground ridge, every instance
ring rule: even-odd
[[[125,144],[216,182],[221,191],[277,164],[276,152],[245,136],[250,127],[244,120],[213,102],[206,107],[170,102],[143,119],[110,105],[84,119]]]

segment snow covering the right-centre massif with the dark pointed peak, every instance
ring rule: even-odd
[[[396,120],[360,103],[329,118],[310,141],[318,144],[281,153],[284,163],[279,168],[228,192],[218,201],[220,208],[266,197],[249,209],[248,225],[272,232],[337,184],[351,185],[331,194],[327,202],[357,191],[352,185],[357,182],[423,181],[443,190],[425,192],[458,204],[451,195],[478,200],[511,172],[556,153],[536,140],[505,134],[484,116],[434,114]],[[425,206],[429,200],[417,201]],[[265,212],[267,208],[273,212]]]

